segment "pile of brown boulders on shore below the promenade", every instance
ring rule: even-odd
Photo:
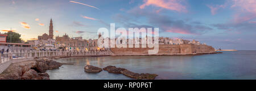
[[[11,64],[0,74],[0,80],[49,80],[46,70],[57,69],[61,65],[61,63],[51,59],[35,58],[34,60]]]

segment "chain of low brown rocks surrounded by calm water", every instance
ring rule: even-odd
[[[102,69],[98,67],[94,67],[92,65],[85,65],[84,67],[85,72],[101,72]],[[108,71],[109,73],[121,73],[127,77],[136,78],[136,79],[148,79],[148,80],[154,80],[156,74],[150,74],[150,73],[134,73],[131,72],[125,68],[117,68],[115,66],[109,65],[108,67],[103,68],[103,70]]]

